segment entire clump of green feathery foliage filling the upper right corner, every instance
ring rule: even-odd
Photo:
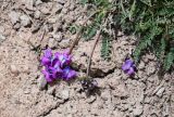
[[[101,29],[101,56],[110,58],[111,42],[121,29],[134,34],[137,46],[133,52],[136,63],[150,51],[161,63],[161,68],[170,70],[174,64],[174,1],[173,0],[82,0],[92,15],[90,24],[82,31],[86,40],[92,39]]]

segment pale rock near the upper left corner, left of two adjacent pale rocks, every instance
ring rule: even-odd
[[[15,11],[10,12],[9,17],[13,25],[20,22],[20,14]]]

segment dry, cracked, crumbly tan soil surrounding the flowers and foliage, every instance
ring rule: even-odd
[[[82,24],[86,8],[76,0],[7,1],[0,1],[1,117],[174,117],[174,73],[160,79],[150,53],[142,56],[135,77],[121,70],[135,48],[132,36],[113,40],[110,62],[100,57],[101,42],[97,44],[91,64],[99,69],[92,76],[99,83],[97,93],[86,96],[77,80],[40,90],[44,76],[35,47],[54,51],[70,47],[74,35],[67,28]],[[82,39],[73,51],[73,61],[84,68],[92,43]],[[78,74],[84,75],[84,68]]]

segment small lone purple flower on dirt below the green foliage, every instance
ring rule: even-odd
[[[124,70],[124,73],[132,76],[136,72],[136,66],[132,60],[127,58],[125,63],[122,65],[122,69]]]

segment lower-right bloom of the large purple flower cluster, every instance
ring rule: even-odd
[[[69,66],[63,69],[62,78],[64,80],[70,80],[76,77],[76,72],[71,69]]]

